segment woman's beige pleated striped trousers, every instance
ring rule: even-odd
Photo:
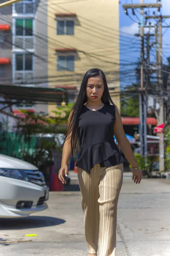
[[[123,164],[112,167],[96,164],[90,175],[78,167],[77,171],[88,253],[97,253],[99,240],[99,256],[116,256],[117,203]]]

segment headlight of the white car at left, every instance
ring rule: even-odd
[[[30,181],[30,178],[23,170],[0,168],[0,176],[9,177],[17,180]]]

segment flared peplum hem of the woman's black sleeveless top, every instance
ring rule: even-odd
[[[102,163],[114,156],[119,149],[115,143],[104,142],[95,145],[88,145],[81,148],[80,157],[76,166],[90,174],[90,170],[97,164]]]

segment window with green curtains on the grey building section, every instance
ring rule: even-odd
[[[15,35],[32,36],[33,35],[33,19],[16,19]]]

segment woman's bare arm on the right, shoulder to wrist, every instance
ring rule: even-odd
[[[116,121],[114,124],[114,134],[115,134],[117,143],[119,144],[120,148],[122,149],[122,152],[125,154],[125,157],[127,158],[130,165],[132,167],[137,167],[138,164],[135,160],[131,145],[125,135],[125,131],[124,131],[123,125],[122,125],[122,119],[121,119],[121,116],[117,109],[116,109]]]

